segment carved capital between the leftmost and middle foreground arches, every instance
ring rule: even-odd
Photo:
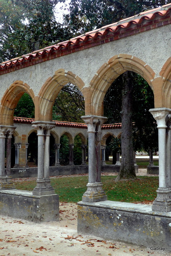
[[[35,121],[32,122],[32,127],[37,130],[38,136],[50,136],[50,131],[55,127],[55,122]]]

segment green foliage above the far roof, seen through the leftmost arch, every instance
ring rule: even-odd
[[[24,93],[18,101],[14,111],[14,117],[35,117],[35,105],[32,101],[32,98],[27,93]]]

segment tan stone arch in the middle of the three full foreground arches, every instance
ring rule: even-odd
[[[52,107],[54,101],[62,87],[67,83],[72,83],[77,86],[81,93],[84,95],[84,83],[80,77],[70,71],[65,71],[64,69],[57,70],[54,76],[48,78],[39,92],[39,120],[52,121]]]

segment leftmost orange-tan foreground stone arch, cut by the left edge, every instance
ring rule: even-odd
[[[1,99],[0,124],[13,125],[14,109],[24,93],[29,94],[35,104],[33,90],[23,81],[15,81],[8,89],[6,89]]]

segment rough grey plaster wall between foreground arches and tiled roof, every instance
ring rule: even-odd
[[[112,41],[107,44],[68,54],[34,66],[0,76],[0,98],[16,80],[27,83],[38,95],[42,85],[58,69],[65,69],[78,75],[85,87],[97,70],[116,54],[130,54],[143,60],[159,76],[159,72],[170,56],[169,26],[162,26],[134,36]]]

